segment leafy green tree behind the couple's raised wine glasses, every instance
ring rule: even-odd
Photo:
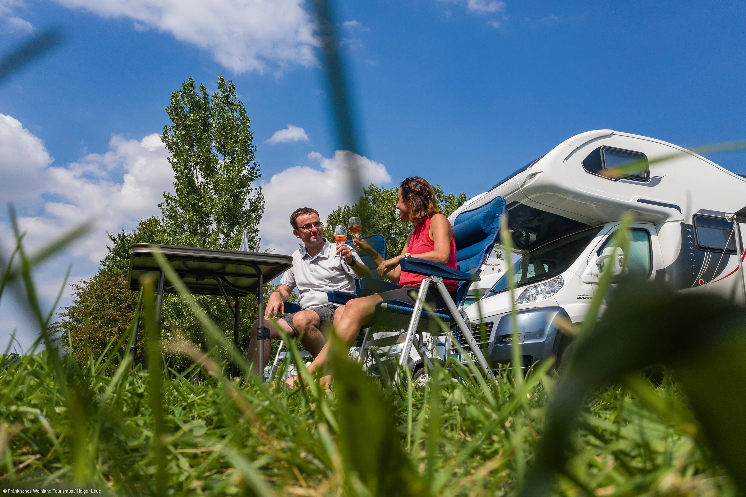
[[[439,184],[433,187],[440,208],[446,216],[451,215],[457,208],[466,202],[466,193],[461,192],[458,196],[453,193],[443,193]],[[391,258],[401,254],[407,236],[412,231],[412,223],[402,221],[396,215],[396,203],[398,201],[398,187],[379,188],[374,184],[363,189],[363,196],[357,204],[347,204],[337,207],[327,217],[324,228],[324,236],[327,240],[333,240],[334,226],[347,225],[352,216],[363,219],[363,236],[369,234],[382,234],[386,237],[386,256]]]

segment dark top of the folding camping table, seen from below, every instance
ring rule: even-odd
[[[136,243],[130,249],[129,289],[140,290],[140,277],[160,272],[154,251],[159,250],[189,291],[195,295],[222,295],[220,283],[231,296],[256,293],[258,275],[269,283],[292,266],[289,255],[245,252],[222,248],[182,247]],[[165,291],[175,293],[166,279]]]

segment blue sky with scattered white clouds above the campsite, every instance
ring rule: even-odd
[[[210,90],[220,74],[233,79],[266,192],[322,211],[343,200],[309,7],[0,0],[0,52],[51,25],[65,33],[60,49],[1,87],[0,196],[16,204],[32,246],[98,219],[88,240],[37,273],[47,298],[69,263],[72,278],[95,272],[106,230],[158,213],[169,169],[152,135],[189,76]],[[592,129],[686,147],[743,140],[745,14],[736,1],[336,2],[366,178],[392,186],[419,174],[474,196]],[[267,143],[288,125],[306,138]],[[744,153],[709,158],[746,174]],[[285,210],[295,205],[277,198],[268,199],[265,246],[289,250]],[[28,343],[33,328],[5,298],[0,345],[13,328]]]

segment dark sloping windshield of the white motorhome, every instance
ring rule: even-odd
[[[576,231],[518,255],[518,260],[513,264],[515,286],[522,287],[562,274],[577,259],[583,248],[591,243],[599,231],[601,231],[601,226]],[[487,293],[487,296],[502,293],[509,289],[508,274],[510,273],[506,273],[498,280],[492,290]]]

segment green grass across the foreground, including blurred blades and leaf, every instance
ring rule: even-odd
[[[503,370],[485,381],[473,365],[451,363],[424,386],[407,379],[384,387],[333,343],[333,390],[311,378],[288,390],[227,378],[225,354],[189,343],[169,350],[192,366],[169,368],[148,281],[148,369],[115,355],[133,326],[83,365],[59,351],[31,269],[83,231],[31,256],[18,234],[2,265],[0,297],[8,282],[22,282],[23,290],[13,289],[37,319],[46,350],[15,362],[0,356],[1,487],[132,496],[602,497],[735,496],[734,480],[741,484],[742,475],[732,480],[713,462],[738,469],[744,454],[744,311],[724,299],[620,287],[598,325],[581,332],[562,378],[543,363],[525,377]],[[211,351],[248,371],[176,287]],[[693,340],[703,333],[712,338]],[[671,348],[671,337],[683,345]],[[295,343],[288,346],[304,370]],[[653,360],[673,364],[657,369],[656,381],[639,374]]]

